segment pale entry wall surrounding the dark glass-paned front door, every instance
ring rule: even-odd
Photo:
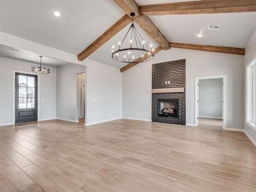
[[[31,72],[36,64],[0,57],[0,125],[13,124],[13,70]],[[38,120],[56,118],[56,68],[38,75]],[[45,102],[41,102],[44,99]]]

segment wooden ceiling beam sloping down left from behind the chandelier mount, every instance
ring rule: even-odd
[[[125,14],[122,18],[120,18],[114,25],[112,25],[106,32],[104,32],[99,38],[97,38],[92,44],[90,44],[85,50],[83,50],[80,54],[78,54],[77,58],[79,61],[84,60],[94,51],[96,51],[100,46],[110,40],[113,36],[115,36],[118,32],[120,32],[123,28],[125,28],[130,22],[132,22],[130,16]]]

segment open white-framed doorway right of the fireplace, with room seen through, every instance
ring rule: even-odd
[[[226,76],[195,78],[195,125],[212,122],[226,128]]]

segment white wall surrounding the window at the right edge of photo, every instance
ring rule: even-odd
[[[246,65],[250,62],[250,60],[255,57],[256,55],[256,31],[252,35],[252,38],[248,42],[245,55],[244,55],[244,77],[246,72]],[[246,88],[246,81],[244,82],[244,98],[245,97],[245,88]],[[246,101],[244,100],[244,106],[246,106]],[[245,111],[245,110],[244,110]],[[245,113],[244,113],[244,120],[246,120]],[[253,130],[250,126],[248,126],[244,121],[244,130],[246,133],[254,140],[254,144],[256,145],[256,130]]]

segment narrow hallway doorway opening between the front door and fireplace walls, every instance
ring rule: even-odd
[[[84,122],[85,118],[85,73],[78,74],[78,118]]]

